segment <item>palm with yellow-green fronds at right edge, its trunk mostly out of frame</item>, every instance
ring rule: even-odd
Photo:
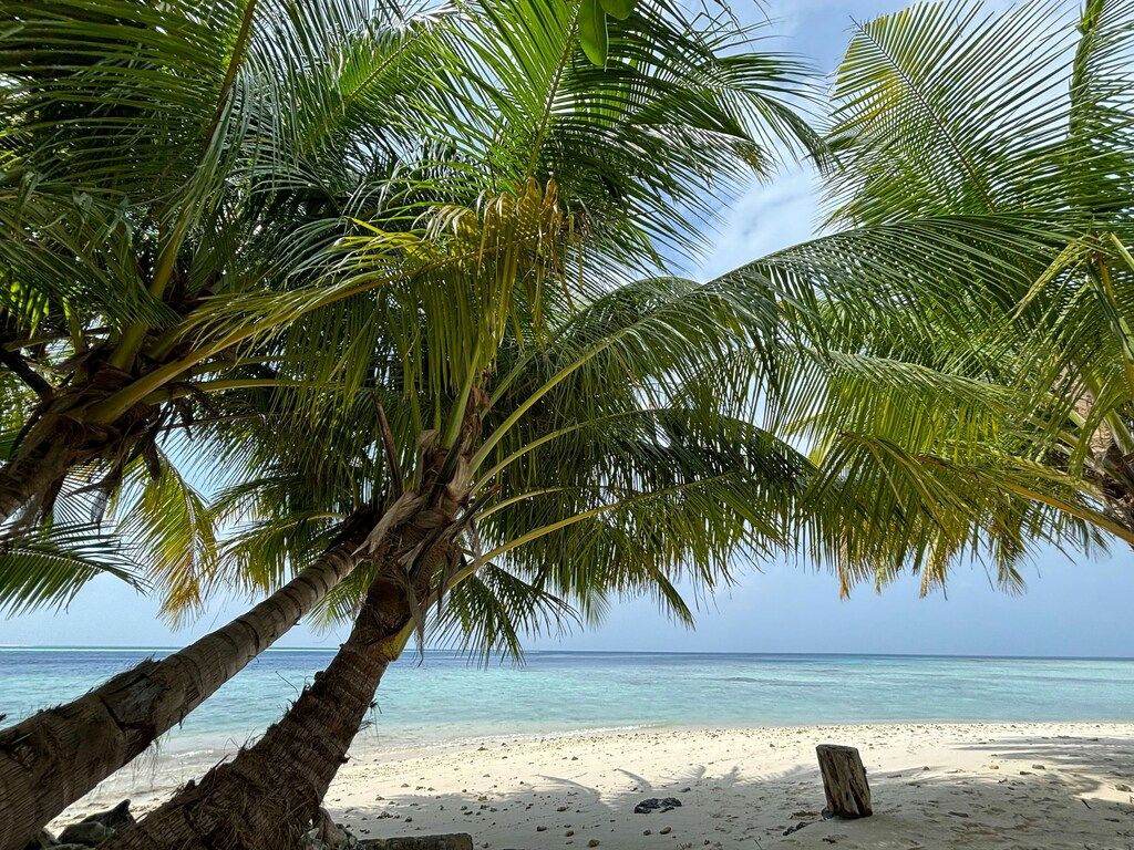
[[[921,526],[924,592],[966,552],[1018,588],[1048,522],[1134,545],[1132,60],[1134,9],[1109,0],[858,26],[828,137],[843,229],[733,273],[806,307],[768,426]],[[869,555],[844,589],[895,575]]]

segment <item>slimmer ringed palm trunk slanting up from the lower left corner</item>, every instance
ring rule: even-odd
[[[358,562],[371,519],[353,516],[315,563],[223,628],[0,732],[0,850],[23,850],[295,626]]]

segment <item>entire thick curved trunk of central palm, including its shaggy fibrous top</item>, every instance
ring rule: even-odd
[[[440,594],[459,558],[469,447],[486,399],[479,390],[456,444],[422,441],[422,476],[397,493],[358,547],[375,566],[347,641],[260,741],[189,783],[103,850],[282,850],[299,845],[346,762],[382,674],[398,657],[420,606]],[[390,451],[391,465],[395,454]],[[400,482],[400,471],[395,476]],[[400,486],[400,485],[398,485]],[[391,494],[393,495],[393,494]]]

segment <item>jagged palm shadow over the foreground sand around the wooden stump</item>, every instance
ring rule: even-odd
[[[818,768],[753,776],[719,763],[712,773],[695,766],[655,783],[619,768],[625,782],[617,793],[600,793],[569,770],[530,776],[518,789],[507,783],[507,790],[485,774],[462,793],[416,788],[373,807],[335,810],[332,804],[332,811],[364,838],[468,832],[490,850],[575,850],[594,841],[618,850],[1134,850],[1134,797],[1117,790],[1134,783],[1134,740],[1009,737],[955,749],[981,754],[980,767],[950,772],[919,762],[871,772],[875,814],[862,821],[820,818]],[[634,814],[648,797],[678,797],[684,805]]]

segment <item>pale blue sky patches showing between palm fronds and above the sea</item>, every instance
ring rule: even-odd
[[[1002,5],[1002,3],[995,3]],[[782,46],[830,70],[852,20],[900,8],[866,0],[778,0],[770,5]],[[759,14],[747,2],[743,17]],[[813,179],[806,171],[753,186],[739,197],[713,241],[703,273],[725,271],[807,238],[818,216]],[[1115,547],[1109,558],[1069,560],[1044,552],[1026,570],[1029,590],[1007,596],[990,587],[980,566],[955,569],[948,596],[921,600],[915,580],[883,593],[861,587],[838,598],[833,578],[798,567],[769,564],[705,601],[695,631],[668,622],[651,601],[612,606],[599,628],[532,648],[657,652],[871,652],[967,655],[1134,656],[1129,605],[1134,555]],[[180,630],[156,619],[154,602],[120,583],[100,579],[64,613],[36,612],[0,620],[0,645],[176,646],[235,617],[246,600],[217,601]],[[315,634],[304,624],[281,646],[333,646],[341,634]]]

